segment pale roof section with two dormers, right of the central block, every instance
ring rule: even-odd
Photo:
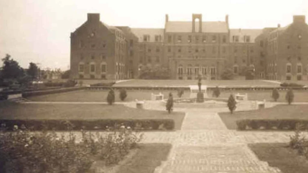
[[[262,33],[262,29],[230,29],[230,42],[233,42],[233,36],[239,36],[239,43],[244,42],[244,36],[250,36],[250,43],[255,42],[258,35]]]

